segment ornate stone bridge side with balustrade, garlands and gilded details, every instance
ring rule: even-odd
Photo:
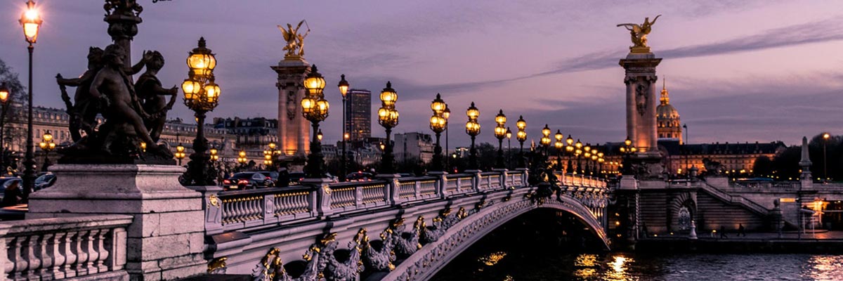
[[[538,197],[525,171],[491,171],[251,191],[199,188],[212,273],[280,280],[424,280],[501,224],[536,208],[579,218],[608,248],[606,183],[557,175]],[[224,267],[223,267],[224,265]]]

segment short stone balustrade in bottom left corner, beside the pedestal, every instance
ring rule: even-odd
[[[0,279],[128,279],[123,267],[131,223],[132,216],[117,214],[3,222],[6,278]]]

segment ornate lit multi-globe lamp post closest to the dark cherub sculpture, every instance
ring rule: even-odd
[[[205,115],[213,111],[219,101],[220,89],[214,83],[213,69],[217,67],[217,58],[211,49],[205,47],[205,38],[199,38],[198,46],[187,57],[187,66],[191,68],[188,78],[181,84],[185,92],[185,105],[196,116],[196,138],[193,140],[191,162],[187,164],[185,182],[188,186],[212,186],[217,177],[213,171],[211,159],[206,151],[208,140],[205,138]]]

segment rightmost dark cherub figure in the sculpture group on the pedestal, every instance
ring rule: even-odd
[[[158,142],[161,137],[161,132],[164,130],[164,123],[167,122],[167,111],[173,109],[175,104],[175,95],[179,88],[173,86],[170,89],[164,89],[161,86],[161,81],[158,80],[158,71],[164,67],[164,56],[158,51],[148,51],[147,71],[137,78],[135,83],[135,90],[137,91],[137,98],[141,99],[143,111],[149,115],[145,118],[144,125],[149,130],[149,137],[154,142]],[[144,53],[147,55],[147,53]],[[164,95],[169,95],[169,102],[164,98]]]

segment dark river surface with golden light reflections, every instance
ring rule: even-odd
[[[432,280],[843,280],[843,256],[564,254],[488,251],[459,257]]]

